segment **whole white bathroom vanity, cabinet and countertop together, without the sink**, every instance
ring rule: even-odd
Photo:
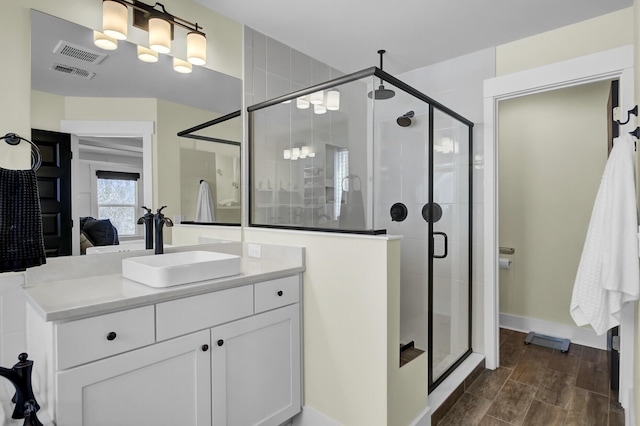
[[[240,253],[241,273],[162,289],[87,265],[28,274],[34,390],[55,424],[277,426],[300,411],[303,249],[203,248]]]

